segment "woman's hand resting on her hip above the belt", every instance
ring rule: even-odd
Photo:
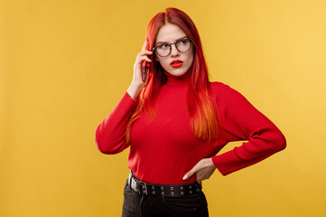
[[[201,184],[202,180],[209,179],[215,171],[216,167],[210,158],[201,159],[195,166],[192,167],[191,171],[183,176],[183,180],[189,179],[192,175],[196,175],[196,180]]]

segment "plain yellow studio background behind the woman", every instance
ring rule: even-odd
[[[196,24],[210,80],[287,138],[275,156],[204,181],[210,216],[326,216],[322,0],[1,0],[0,216],[121,215],[128,150],[101,154],[95,130],[133,79],[147,24],[170,6]]]

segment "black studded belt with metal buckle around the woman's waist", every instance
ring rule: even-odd
[[[130,188],[136,193],[145,195],[163,195],[163,196],[186,196],[201,191],[201,185],[196,182],[193,184],[148,184],[137,179],[132,172],[128,178]]]

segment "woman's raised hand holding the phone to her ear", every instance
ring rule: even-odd
[[[141,89],[144,87],[145,83],[147,82],[147,74],[146,74],[146,80],[145,82],[142,80],[142,63],[143,61],[151,62],[151,59],[147,57],[147,55],[152,55],[153,52],[147,51],[146,46],[148,42],[144,42],[142,52],[139,52],[137,54],[137,57],[135,59],[135,65],[134,65],[134,78],[133,83],[137,86],[139,86]]]

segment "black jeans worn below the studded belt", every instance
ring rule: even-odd
[[[122,217],[208,217],[205,194],[200,191],[187,196],[144,195],[124,189]]]

